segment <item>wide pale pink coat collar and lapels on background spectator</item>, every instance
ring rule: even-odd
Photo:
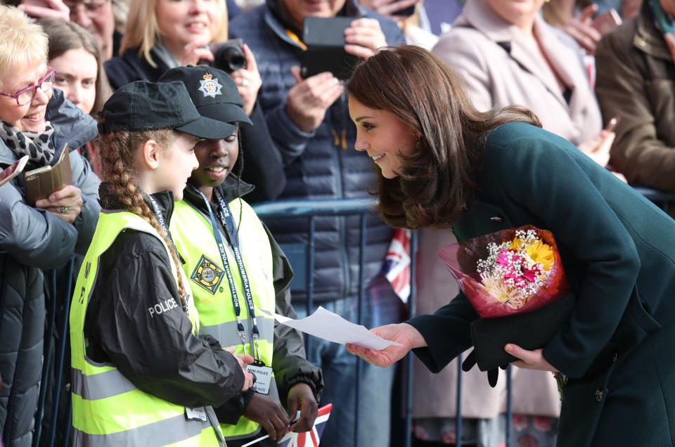
[[[567,101],[560,91],[555,75],[541,60],[536,48],[522,35],[517,26],[510,24],[492,8],[486,0],[468,0],[462,14],[454,22],[453,27],[473,27],[484,34],[489,40],[501,46],[523,69],[534,74],[537,79],[546,85],[546,88],[558,98],[560,103],[567,105]],[[541,51],[567,86],[577,86],[579,82],[588,82],[578,79],[579,70],[572,70],[570,60],[578,60],[572,48],[560,45],[560,39],[553,32],[553,28],[546,24],[541,15],[534,18],[534,35],[539,41]]]

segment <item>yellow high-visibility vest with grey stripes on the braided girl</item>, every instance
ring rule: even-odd
[[[219,441],[222,433],[211,407],[205,408],[206,422],[188,420],[184,406],[137,389],[115,365],[98,363],[86,356],[84,316],[98,276],[98,262],[117,235],[127,228],[158,238],[171,259],[164,240],[140,216],[131,212],[99,214],[94,238],[77,276],[70,308],[73,446],[222,446]],[[177,283],[178,274],[184,273],[176,271],[173,262],[169,262]],[[188,298],[188,316],[196,334],[197,310],[187,278],[183,278],[183,283]],[[155,312],[169,311],[173,306],[176,303],[158,304]],[[178,307],[180,309],[180,303]]]

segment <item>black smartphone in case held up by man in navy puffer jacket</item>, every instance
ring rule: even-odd
[[[308,78],[331,72],[338,79],[348,79],[359,58],[345,51],[345,30],[353,18],[306,17],[302,21],[302,41],[307,50],[300,58],[300,75]]]

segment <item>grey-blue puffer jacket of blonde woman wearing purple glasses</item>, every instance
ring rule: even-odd
[[[84,254],[96,229],[98,177],[76,148],[96,136],[96,122],[54,89],[47,105],[56,157],[70,148],[72,185],[82,190],[79,216],[69,224],[23,199],[23,175],[0,187],[0,434],[6,447],[31,446],[42,370],[44,273]],[[0,141],[0,167],[16,155]]]

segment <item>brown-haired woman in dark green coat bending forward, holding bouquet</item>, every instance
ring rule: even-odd
[[[558,446],[669,444],[675,361],[658,354],[675,337],[675,222],[531,112],[475,110],[457,75],[421,48],[380,51],[347,90],[355,148],[378,165],[388,223],[451,228],[458,240],[526,224],[555,235],[572,314],[541,349],[504,349],[519,368],[566,377]],[[373,329],[403,346],[347,349],[380,366],[415,349],[439,371],[470,347],[477,318],[460,293],[433,315]]]

